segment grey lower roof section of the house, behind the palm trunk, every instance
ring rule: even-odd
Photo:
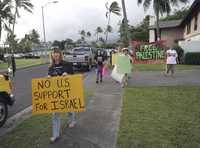
[[[174,28],[180,26],[182,20],[170,20],[170,21],[159,21],[159,27],[163,28]],[[156,24],[149,26],[149,29],[156,29]]]

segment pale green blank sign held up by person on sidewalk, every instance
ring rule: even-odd
[[[130,58],[125,55],[120,55],[117,58],[117,72],[120,74],[131,73],[132,65]]]

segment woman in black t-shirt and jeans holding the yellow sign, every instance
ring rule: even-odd
[[[73,67],[70,63],[63,60],[63,54],[58,48],[54,48],[50,53],[50,65],[48,69],[48,76],[66,76],[68,74],[73,74]],[[70,118],[69,127],[72,128],[75,126],[75,113],[69,112],[68,116]],[[50,138],[50,142],[53,143],[60,137],[60,114],[53,113],[52,114],[52,134],[53,136]]]

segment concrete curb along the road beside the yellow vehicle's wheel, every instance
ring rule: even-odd
[[[0,128],[0,137],[11,132],[17,125],[29,118],[31,116],[31,111],[32,105],[8,118],[5,125]]]

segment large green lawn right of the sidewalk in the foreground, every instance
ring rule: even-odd
[[[200,147],[200,87],[134,87],[123,94],[117,148]]]

